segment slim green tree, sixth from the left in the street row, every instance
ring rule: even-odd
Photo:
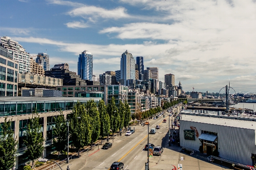
[[[100,135],[103,138],[105,135],[108,135],[110,130],[110,119],[107,113],[107,107],[103,100],[99,101],[98,110],[100,120]]]

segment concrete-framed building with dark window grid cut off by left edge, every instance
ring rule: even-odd
[[[8,49],[0,47],[0,96],[17,96],[18,62]]]

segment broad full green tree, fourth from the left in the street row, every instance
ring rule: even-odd
[[[80,148],[91,142],[91,124],[90,118],[85,109],[85,105],[77,101],[73,107],[70,119],[70,138],[74,146],[78,149],[78,156]]]

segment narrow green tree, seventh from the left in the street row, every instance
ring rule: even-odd
[[[114,134],[118,130],[120,124],[120,116],[115,104],[116,99],[113,97],[108,104],[107,111],[110,118],[110,129]]]

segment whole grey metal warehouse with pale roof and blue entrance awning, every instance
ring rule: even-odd
[[[256,118],[181,112],[180,146],[244,165],[256,163]]]

